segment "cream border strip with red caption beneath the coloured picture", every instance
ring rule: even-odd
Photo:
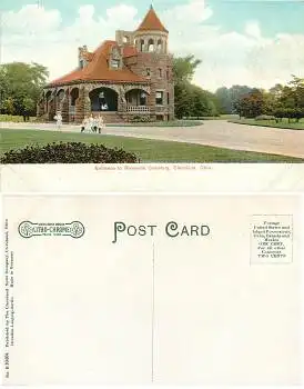
[[[304,192],[304,163],[8,164],[3,193]]]

